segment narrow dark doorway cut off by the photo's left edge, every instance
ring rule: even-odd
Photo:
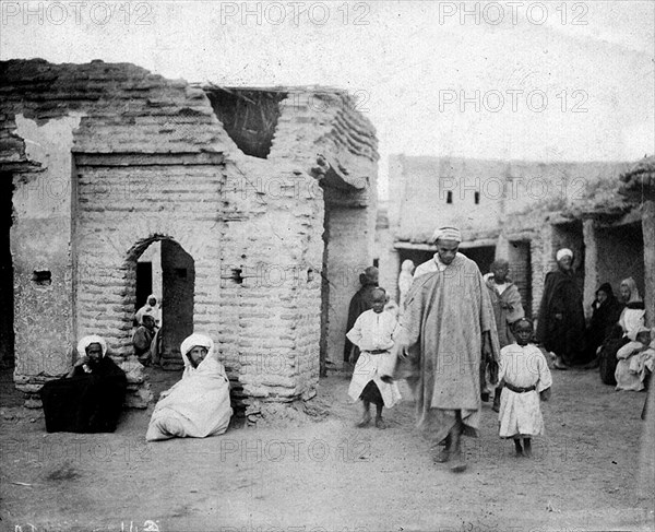
[[[14,365],[14,299],[11,226],[13,224],[13,176],[0,173],[0,367]]]

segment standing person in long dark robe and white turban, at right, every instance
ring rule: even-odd
[[[537,340],[555,354],[556,369],[582,362],[584,352],[584,309],[582,293],[573,276],[573,251],[557,252],[557,270],[546,274],[539,306]]]

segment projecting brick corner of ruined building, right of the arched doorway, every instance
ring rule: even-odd
[[[331,203],[320,181],[335,178],[331,164],[358,179],[362,168],[357,143],[352,146],[356,153],[344,151],[348,133],[340,131],[343,125],[335,125],[343,110],[310,106],[297,94],[279,105],[267,157],[247,156],[234,144],[223,190],[221,343],[237,355],[241,393],[251,417],[265,415],[270,402],[315,393],[322,280],[333,279],[332,264],[323,268],[324,216],[331,220],[333,213],[326,213]],[[374,159],[366,170],[374,178]],[[360,182],[368,187],[373,178]],[[345,184],[345,188],[348,201],[355,201],[350,205],[354,225],[364,228],[360,238],[364,235],[372,244],[372,230],[367,228],[374,200],[362,203],[356,199],[357,187]],[[340,238],[348,235],[330,230],[327,245]],[[353,255],[370,257],[371,246],[358,244],[361,240],[354,241]],[[323,306],[343,312],[333,305],[333,292],[325,295],[330,300]]]

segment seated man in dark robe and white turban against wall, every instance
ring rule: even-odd
[[[102,336],[84,336],[79,359],[63,378],[40,390],[48,433],[112,433],[122,410],[126,374],[107,356]]]

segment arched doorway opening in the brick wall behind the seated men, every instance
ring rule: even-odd
[[[136,259],[136,303],[134,312],[148,295],[157,298],[162,326],[162,365],[180,369],[180,344],[193,333],[193,258],[174,240],[153,241]]]

